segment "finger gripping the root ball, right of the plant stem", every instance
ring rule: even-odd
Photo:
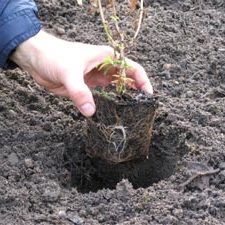
[[[130,59],[126,59],[126,60],[127,60],[127,63],[131,65],[132,67],[127,70],[127,75],[135,80],[136,88],[141,89],[150,94],[153,94],[152,85],[150,83],[150,80],[148,79],[148,76],[144,68],[140,64]]]

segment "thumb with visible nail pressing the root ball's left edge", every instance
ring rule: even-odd
[[[78,110],[86,117],[90,117],[95,113],[95,103],[93,95],[84,80],[78,80],[77,74],[67,77],[65,87],[68,91],[70,99],[73,101]],[[83,76],[82,76],[83,78]]]

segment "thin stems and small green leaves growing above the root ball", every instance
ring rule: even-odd
[[[120,18],[117,16],[116,9],[116,0],[110,0],[110,5],[112,6],[112,15],[108,16],[106,19],[103,8],[102,8],[102,0],[98,0],[99,12],[101,15],[101,20],[103,24],[104,31],[106,33],[108,42],[111,47],[114,49],[114,57],[106,57],[101,65],[99,65],[98,69],[103,70],[103,74],[107,75],[111,68],[116,68],[117,73],[112,75],[114,80],[112,84],[115,84],[116,91],[118,94],[123,95],[126,92],[126,87],[130,84],[134,83],[134,80],[128,78],[126,75],[127,69],[131,68],[131,66],[127,63],[125,57],[125,51],[129,50],[131,46],[134,44],[135,39],[140,31],[142,20],[143,20],[143,0],[140,3],[139,15],[137,18],[136,29],[133,37],[127,37],[125,31],[120,26]],[[137,5],[137,0],[131,0],[131,10],[135,10]],[[110,24],[113,23],[113,27]]]

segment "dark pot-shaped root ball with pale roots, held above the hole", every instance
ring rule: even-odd
[[[147,158],[157,100],[142,91],[95,90],[96,113],[87,119],[86,152],[108,163]]]

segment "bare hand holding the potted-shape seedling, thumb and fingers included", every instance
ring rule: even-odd
[[[69,42],[40,31],[20,44],[11,60],[49,91],[71,98],[78,110],[89,117],[95,113],[89,88],[106,86],[113,79],[110,75],[103,76],[96,66],[113,54],[108,46]],[[128,63],[132,68],[127,70],[127,76],[135,81],[135,87],[152,93],[143,67],[129,59]]]

